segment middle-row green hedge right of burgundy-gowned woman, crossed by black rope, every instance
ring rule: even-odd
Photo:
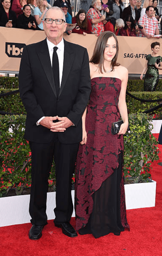
[[[146,100],[157,100],[162,99],[162,91],[131,91],[130,92],[133,96],[136,96],[140,99],[146,99]],[[153,108],[154,106],[158,106],[161,104],[160,101],[156,102],[141,102],[139,100],[135,100],[131,98],[130,96],[126,95],[126,104],[128,108],[128,113],[141,113],[143,111],[149,110]],[[159,119],[162,119],[162,108],[158,108],[154,112],[152,112],[150,115],[156,114],[156,117]]]

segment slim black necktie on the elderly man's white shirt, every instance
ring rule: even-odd
[[[57,49],[58,47],[53,47],[53,57],[52,57],[52,70],[53,70],[53,78],[55,81],[55,87],[57,96],[59,95],[60,90],[60,75],[59,75],[59,62],[58,62],[58,56],[57,56]]]

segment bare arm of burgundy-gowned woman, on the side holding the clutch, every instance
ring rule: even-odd
[[[120,126],[118,134],[125,134],[128,128],[128,112],[126,106],[126,86],[128,81],[128,70],[125,67],[120,67],[120,72],[122,73],[122,86],[119,95],[118,108],[120,115],[123,120],[123,124]]]

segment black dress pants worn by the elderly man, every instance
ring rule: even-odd
[[[70,221],[73,213],[71,198],[71,178],[75,170],[75,161],[79,143],[63,144],[58,138],[50,143],[29,142],[31,147],[31,197],[29,213],[31,223],[47,223],[46,200],[48,178],[54,157],[56,171],[56,208],[55,223]]]

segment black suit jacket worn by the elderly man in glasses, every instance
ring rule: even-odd
[[[62,143],[82,140],[82,114],[91,92],[86,48],[64,40],[64,62],[57,98],[47,40],[24,47],[19,70],[19,93],[27,111],[24,138],[48,143],[58,134]],[[75,126],[52,132],[36,122],[42,116],[66,116]]]

